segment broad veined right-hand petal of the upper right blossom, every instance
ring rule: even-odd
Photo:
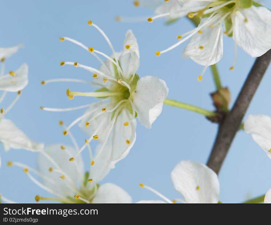
[[[245,22],[245,17],[247,22]],[[252,6],[232,16],[233,38],[252,57],[259,57],[271,48],[271,12]]]

